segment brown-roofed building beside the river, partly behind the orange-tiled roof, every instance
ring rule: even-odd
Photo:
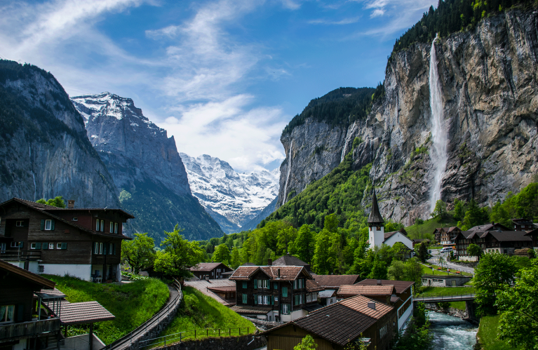
[[[392,285],[394,286],[394,294],[391,295],[389,299],[390,305],[394,306],[396,309],[396,314],[398,316],[398,330],[402,329],[406,323],[408,323],[409,318],[413,314],[413,285],[415,282],[410,281],[391,281],[391,280],[376,280],[372,278],[366,278],[363,281],[357,283],[356,285],[369,285],[369,286],[383,286],[383,285]],[[385,296],[385,298],[388,296]],[[382,300],[381,298],[375,298]]]

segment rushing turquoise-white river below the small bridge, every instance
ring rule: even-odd
[[[430,311],[433,350],[472,350],[478,326],[459,317]]]

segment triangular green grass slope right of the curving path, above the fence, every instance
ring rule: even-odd
[[[212,297],[203,295],[192,287],[183,288],[183,302],[174,321],[159,335],[175,334],[187,330],[205,328],[249,328],[252,333],[255,325],[234,311],[217,302]]]

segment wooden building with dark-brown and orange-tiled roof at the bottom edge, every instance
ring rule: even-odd
[[[387,350],[396,330],[394,307],[357,295],[261,335],[267,338],[267,350],[293,349],[307,335],[314,337],[318,350],[342,350],[357,342]]]

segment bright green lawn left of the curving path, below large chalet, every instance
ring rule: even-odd
[[[79,278],[43,275],[56,282],[68,302],[97,301],[110,311],[114,321],[97,322],[93,330],[97,337],[110,344],[151,318],[168,300],[168,286],[156,278],[146,278],[123,285],[100,284]],[[87,333],[89,325],[69,327],[69,337]]]

